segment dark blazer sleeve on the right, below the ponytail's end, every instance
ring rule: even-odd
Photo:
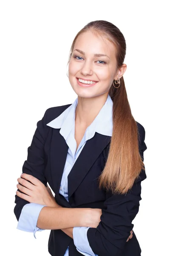
[[[147,149],[144,143],[145,131],[139,124],[139,152]],[[142,170],[132,189],[126,195],[114,195],[105,201],[102,209],[101,221],[96,228],[89,228],[87,237],[93,252],[100,256],[117,256],[125,246],[130,231],[133,229],[132,221],[139,211],[141,198],[141,181],[146,178]]]

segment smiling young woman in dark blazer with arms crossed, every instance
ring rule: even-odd
[[[68,61],[78,97],[45,111],[28,147],[17,184],[17,228],[34,236],[50,229],[52,256],[141,255],[132,221],[147,147],[127,100],[125,53],[125,38],[112,23],[96,20],[80,30]]]

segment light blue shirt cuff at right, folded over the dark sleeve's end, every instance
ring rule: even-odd
[[[73,240],[74,245],[79,253],[85,256],[98,256],[95,254],[88,242],[87,232],[90,227],[74,227],[73,228]]]

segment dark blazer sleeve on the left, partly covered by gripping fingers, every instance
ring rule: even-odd
[[[45,176],[44,176],[44,169],[45,169],[44,144],[45,144],[45,127],[46,127],[45,119],[47,116],[47,112],[48,112],[48,109],[45,111],[45,114],[42,117],[42,120],[37,122],[37,129],[34,133],[31,145],[28,147],[27,160],[23,164],[23,173],[27,173],[29,175],[36,177],[45,186],[47,184],[47,180],[45,179]],[[19,189],[17,190],[20,191]],[[15,204],[16,205],[14,207],[14,214],[18,221],[24,205],[29,204],[29,202],[15,195]]]

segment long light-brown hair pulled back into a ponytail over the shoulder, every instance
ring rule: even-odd
[[[114,44],[116,67],[121,67],[126,55],[125,38],[115,25],[105,20],[92,21],[77,33],[71,45],[68,63],[78,36],[89,30]],[[123,76],[120,83],[119,88],[111,86],[109,90],[113,101],[113,134],[105,168],[99,176],[99,188],[125,194],[139,177],[141,169],[144,169],[144,163],[139,154],[139,131],[130,110]]]

